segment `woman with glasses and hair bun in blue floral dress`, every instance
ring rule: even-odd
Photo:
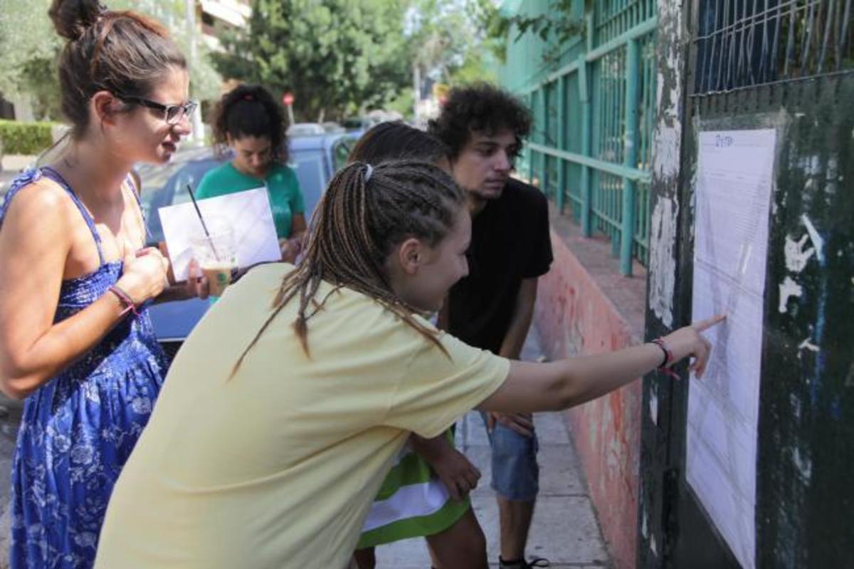
[[[12,567],[89,567],[115,480],[167,361],[147,306],[168,262],[143,249],[132,178],[190,131],[184,56],[158,24],[54,0],[72,125],[48,166],[0,203],[0,389],[25,399],[12,472]]]

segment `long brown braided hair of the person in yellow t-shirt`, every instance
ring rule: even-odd
[[[426,162],[392,161],[377,167],[354,162],[344,167],[330,182],[313,215],[306,256],[285,276],[273,299],[272,314],[233,372],[295,297],[300,303],[294,322],[296,336],[310,355],[308,320],[329,297],[317,298],[322,281],[335,287],[332,292],[346,286],[370,296],[445,351],[436,331],[412,317],[418,308],[395,295],[383,267],[392,250],[407,238],[423,239],[435,247],[453,229],[464,205],[465,194],[453,179]]]

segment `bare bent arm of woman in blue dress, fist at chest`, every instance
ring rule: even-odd
[[[95,346],[125,310],[108,292],[53,323],[74,229],[67,198],[51,184],[21,190],[0,227],[0,390],[18,399]],[[136,302],[154,296],[166,279],[162,258],[146,256],[128,260],[120,279]]]

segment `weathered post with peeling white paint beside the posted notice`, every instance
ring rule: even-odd
[[[681,255],[681,220],[690,204],[681,203],[683,132],[685,132],[687,22],[683,2],[658,0],[658,92],[652,138],[652,214],[647,286],[646,338],[664,335],[682,322],[675,303],[680,293],[677,260]],[[639,472],[637,566],[661,567],[670,554],[670,513],[664,496],[672,474],[667,461],[672,387],[667,378],[651,374],[644,379]]]

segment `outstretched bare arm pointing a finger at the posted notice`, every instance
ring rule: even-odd
[[[664,337],[674,361],[693,356],[692,369],[700,377],[711,351],[711,344],[700,332],[722,320],[723,316],[716,316]],[[525,412],[574,407],[651,372],[661,364],[663,356],[659,346],[645,343],[610,354],[582,355],[550,363],[512,361],[504,384],[477,408]]]

